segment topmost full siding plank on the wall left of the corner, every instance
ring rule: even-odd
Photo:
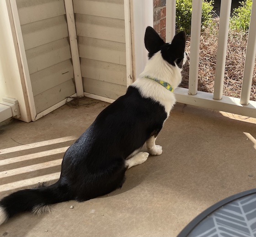
[[[64,0],[40,1],[38,5],[21,7],[18,12],[21,25],[66,14]]]

